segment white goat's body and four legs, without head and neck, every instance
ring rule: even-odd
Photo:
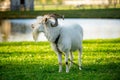
[[[56,27],[58,28],[58,27]],[[73,25],[67,25],[67,26],[60,26],[58,31],[59,33],[56,33],[56,35],[60,34],[60,38],[58,40],[58,43],[55,44],[54,42],[51,42],[53,50],[58,55],[58,61],[59,61],[59,72],[62,71],[62,54],[61,52],[65,53],[65,61],[68,62],[68,56],[70,54],[71,61],[73,60],[72,52],[78,50],[78,60],[79,60],[79,69],[81,70],[81,55],[82,55],[82,40],[83,40],[83,29],[80,25],[73,24]],[[56,36],[57,38],[57,36]],[[55,38],[55,39],[56,39]],[[48,39],[49,40],[49,39]],[[59,50],[61,51],[59,51]],[[70,66],[72,63],[70,64]],[[68,66],[66,66],[66,72],[69,72]]]

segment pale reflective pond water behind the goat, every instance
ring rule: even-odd
[[[3,20],[0,26],[0,42],[33,41],[31,24],[35,19]],[[84,39],[120,38],[120,19],[59,19],[62,25],[78,23],[84,30]],[[38,41],[47,41],[44,34]]]

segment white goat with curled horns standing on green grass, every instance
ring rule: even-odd
[[[38,34],[44,32],[46,38],[52,44],[53,50],[58,56],[59,72],[62,71],[62,52],[65,53],[66,72],[69,72],[68,57],[73,61],[72,52],[79,51],[78,62],[81,70],[82,40],[83,29],[78,24],[69,24],[61,26],[57,18],[63,16],[57,14],[47,14],[37,18],[37,24],[32,24],[33,38],[37,40]]]

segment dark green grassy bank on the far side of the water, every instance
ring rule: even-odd
[[[65,18],[117,18],[120,19],[120,8],[116,9],[78,9],[78,10],[46,10],[46,11],[6,11],[0,12],[0,18],[36,18],[37,16],[57,13]]]

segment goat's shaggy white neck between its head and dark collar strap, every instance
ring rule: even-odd
[[[45,25],[45,36],[50,42],[54,42],[58,35],[60,34],[60,27],[48,27]]]

